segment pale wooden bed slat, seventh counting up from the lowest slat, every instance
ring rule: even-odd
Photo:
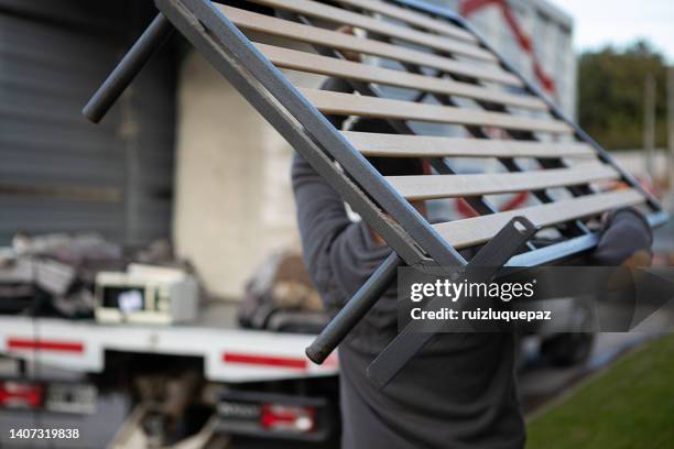
[[[343,8],[330,7],[312,0],[251,0],[253,3],[278,10],[290,11],[302,15],[352,25],[377,34],[400,39],[413,44],[423,45],[432,50],[469,56],[476,59],[497,62],[498,58],[475,44],[457,42],[446,36],[424,33],[410,28],[404,28],[391,22],[383,22],[369,15],[347,11]]]

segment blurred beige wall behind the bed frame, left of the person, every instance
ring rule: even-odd
[[[240,298],[256,265],[297,245],[292,149],[196,53],[181,70],[174,241],[208,289]]]

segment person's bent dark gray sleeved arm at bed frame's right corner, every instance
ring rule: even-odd
[[[634,208],[618,209],[605,220],[599,243],[590,258],[601,266],[650,266],[653,231]]]

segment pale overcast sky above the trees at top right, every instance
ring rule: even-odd
[[[575,20],[577,51],[646,37],[674,64],[674,0],[551,0]]]

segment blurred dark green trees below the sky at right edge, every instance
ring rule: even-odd
[[[578,119],[580,125],[609,150],[643,146],[646,77],[656,89],[656,146],[665,146],[666,64],[648,42],[622,51],[607,46],[580,55],[578,64]]]

